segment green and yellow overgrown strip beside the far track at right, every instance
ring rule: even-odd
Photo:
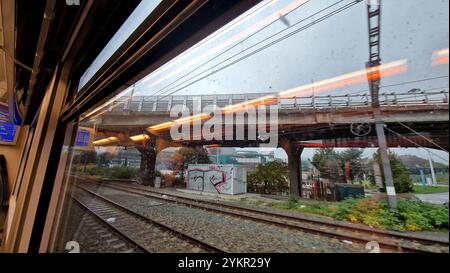
[[[437,231],[448,230],[449,227],[447,206],[420,201],[398,201],[398,213],[390,211],[386,201],[374,198],[347,199],[340,203],[300,202],[291,199],[288,202],[271,203],[270,205],[274,208],[314,213],[381,229]]]

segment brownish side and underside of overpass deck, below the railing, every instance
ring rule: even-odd
[[[447,105],[417,105],[417,106],[384,106],[381,108],[381,117],[386,123],[386,135],[390,147],[430,147],[436,145],[427,141],[424,137],[417,135],[400,124],[406,124],[421,135],[439,146],[448,150],[448,104]],[[98,138],[123,134],[133,135],[142,133],[145,128],[173,120],[167,112],[115,112],[101,117],[97,125],[99,130]],[[270,119],[269,119],[270,120]],[[268,121],[269,121],[268,120]],[[323,146],[329,147],[376,147],[377,138],[374,130],[373,109],[371,107],[347,107],[340,109],[324,110],[280,110],[278,119],[271,120],[277,122],[279,139],[289,139],[296,142],[323,140]],[[371,131],[358,136],[350,130],[351,124],[355,123],[371,124]],[[248,131],[254,129],[245,125],[245,136]],[[191,130],[192,131],[192,130]],[[225,132],[225,130],[223,130]],[[236,132],[234,132],[235,134]],[[170,138],[169,133],[161,132],[163,138]],[[220,144],[228,147],[257,147],[256,140],[237,139],[234,140],[191,140],[184,141],[183,145],[208,145]],[[123,145],[133,145],[123,143]],[[308,144],[305,144],[306,146]]]

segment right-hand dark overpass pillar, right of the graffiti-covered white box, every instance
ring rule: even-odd
[[[288,156],[289,192],[292,196],[300,197],[302,194],[301,155],[303,148],[298,147],[295,142],[290,140],[282,140],[281,147]]]

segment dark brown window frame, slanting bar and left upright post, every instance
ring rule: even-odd
[[[53,167],[47,166],[47,169],[51,172],[50,175],[47,173],[47,176],[54,177],[55,181],[52,188],[45,193],[50,195],[47,210],[44,214],[37,216],[41,218],[41,221],[44,221],[44,226],[41,233],[33,234],[35,238],[32,238],[32,240],[39,242],[39,245],[33,246],[31,248],[32,251],[48,252],[55,250],[55,243],[60,234],[59,221],[64,211],[64,202],[61,200],[64,200],[66,189],[70,186],[65,174],[71,164],[70,147],[76,137],[79,116],[89,108],[126,89],[132,85],[133,81],[136,82],[158,69],[260,2],[262,0],[221,1],[215,3],[207,0],[164,0],[79,92],[77,92],[77,87],[81,76],[80,69],[78,68],[78,71],[74,71],[72,67],[68,83],[68,99],[61,110],[59,118],[59,122],[63,126],[62,131],[64,132],[64,139],[59,140],[59,146],[56,149],[59,149],[59,162]],[[217,5],[218,3],[220,4]],[[211,9],[213,9],[213,12],[211,12]],[[198,14],[199,10],[202,10],[200,15]],[[186,25],[186,21],[192,18],[196,22],[203,22],[203,24]],[[161,29],[155,29],[158,27],[158,20],[162,20],[162,22],[166,20],[171,22],[171,24],[164,24],[164,27]],[[181,27],[184,27],[184,29],[180,31],[191,29],[194,32],[181,37],[181,42],[168,49],[164,56],[159,56],[150,65],[142,66],[142,62],[145,62],[146,58],[153,53],[154,47],[164,42],[169,35]],[[152,33],[152,31],[157,31],[158,37],[154,40],[146,41],[148,38],[146,35]],[[70,56],[67,58],[70,59]],[[123,59],[127,61],[123,65],[117,65]],[[113,75],[108,76],[107,74],[112,71],[114,72]],[[111,84],[111,79],[115,81],[114,84]],[[55,139],[53,139],[53,142],[57,143]],[[69,151],[61,158],[64,146],[69,147]]]

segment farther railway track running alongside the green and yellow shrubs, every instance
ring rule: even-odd
[[[384,231],[369,227],[337,223],[334,221],[311,219],[302,216],[293,216],[283,213],[262,211],[256,208],[225,204],[208,200],[198,200],[189,197],[161,193],[151,189],[142,189],[135,186],[124,186],[117,183],[101,183],[103,187],[109,187],[128,193],[138,194],[159,201],[182,204],[189,207],[213,211],[257,222],[262,222],[280,227],[301,230],[321,236],[337,238],[342,241],[367,244],[377,242],[383,251],[395,252],[448,252],[449,244],[445,241],[434,240],[402,234],[400,232]]]

